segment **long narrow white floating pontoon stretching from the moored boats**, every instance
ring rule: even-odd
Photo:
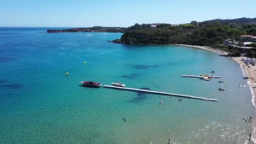
[[[104,88],[115,88],[115,89],[122,89],[122,90],[128,90],[128,91],[142,91],[146,93],[153,93],[153,94],[160,94],[160,95],[166,95],[166,96],[177,96],[177,97],[183,97],[183,98],[189,98],[189,99],[200,99],[204,101],[218,101],[216,99],[207,99],[207,98],[201,98],[196,96],[187,96],[182,94],[175,94],[175,93],[165,93],[162,91],[149,91],[149,90],[142,90],[137,88],[123,88],[118,86],[112,86],[112,85],[103,85]]]

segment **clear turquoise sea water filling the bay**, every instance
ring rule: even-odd
[[[37,33],[46,29],[0,28],[0,143],[248,141],[253,122],[241,119],[253,115],[252,96],[235,61],[194,48],[107,42],[121,33]],[[225,83],[180,76],[212,70]],[[80,86],[85,80],[219,102]]]

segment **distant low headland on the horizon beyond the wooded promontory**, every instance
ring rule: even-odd
[[[125,32],[124,27],[85,27],[85,28],[73,28],[73,29],[47,29],[48,33],[60,33],[60,32]]]

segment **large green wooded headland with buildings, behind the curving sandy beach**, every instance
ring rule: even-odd
[[[191,21],[189,24],[135,24],[114,43],[197,45],[256,57],[256,18]]]

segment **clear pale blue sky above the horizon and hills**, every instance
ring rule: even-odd
[[[129,27],[256,17],[256,0],[0,0],[0,27]]]

